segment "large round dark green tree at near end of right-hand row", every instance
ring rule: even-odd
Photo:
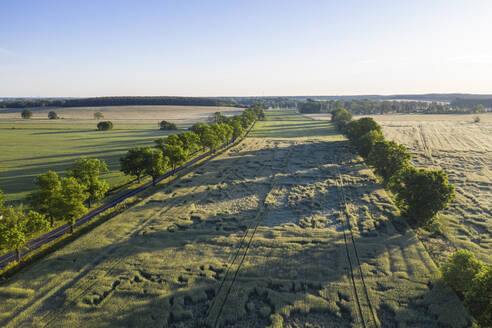
[[[405,167],[389,182],[403,214],[419,224],[429,224],[454,199],[454,186],[442,170]]]

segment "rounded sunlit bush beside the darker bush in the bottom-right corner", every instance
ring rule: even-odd
[[[472,252],[461,249],[454,252],[440,270],[444,282],[463,296],[470,289],[473,278],[482,267],[483,264]]]

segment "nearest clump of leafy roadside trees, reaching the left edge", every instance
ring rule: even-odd
[[[67,177],[54,171],[34,179],[37,190],[29,195],[31,209],[24,205],[4,206],[0,191],[0,248],[15,250],[20,260],[26,241],[39,232],[54,226],[55,220],[71,225],[88,211],[94,201],[102,199],[109,189],[99,175],[107,171],[104,161],[81,158],[70,167]]]

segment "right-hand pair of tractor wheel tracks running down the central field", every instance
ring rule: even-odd
[[[343,220],[344,222],[344,229],[343,229],[343,240],[345,244],[345,251],[347,255],[347,262],[348,262],[348,271],[349,271],[349,277],[352,282],[352,287],[354,290],[354,296],[356,300],[356,306],[357,310],[360,316],[360,322],[362,324],[362,327],[364,328],[369,328],[369,327],[379,327],[379,322],[376,319],[375,315],[375,310],[374,307],[371,303],[371,298],[369,297],[369,292],[368,288],[364,279],[364,273],[362,272],[362,266],[361,266],[361,260],[359,258],[359,254],[357,252],[357,245],[355,243],[354,239],[354,233],[352,230],[352,226],[350,224],[350,211],[349,207],[347,204],[347,197],[346,193],[344,190],[344,182],[343,182],[343,176],[340,172],[340,159],[336,161],[337,166],[336,166],[336,171],[337,171],[337,187],[338,187],[338,194],[339,194],[339,203],[340,203],[340,209],[342,209],[341,215],[345,218]],[[353,249],[353,257],[350,255],[351,251],[350,248]],[[358,267],[358,270],[355,269],[355,267]],[[357,280],[360,280],[360,283],[362,285],[362,291],[357,288]],[[365,300],[363,300],[365,298]],[[364,304],[365,303],[365,304]],[[369,308],[369,318],[365,318],[363,307],[368,307]],[[371,324],[372,322],[372,324]]]

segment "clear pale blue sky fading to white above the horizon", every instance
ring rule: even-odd
[[[492,93],[490,0],[0,0],[0,97]]]

